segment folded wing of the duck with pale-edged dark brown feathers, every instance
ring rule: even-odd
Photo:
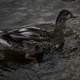
[[[48,32],[46,30],[37,27],[27,27],[16,30],[8,31],[3,34],[3,37],[10,37],[11,39],[21,39],[21,40],[36,40],[42,41],[48,38]]]

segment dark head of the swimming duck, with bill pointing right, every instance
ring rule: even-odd
[[[56,25],[64,24],[67,20],[71,18],[76,18],[70,11],[64,9],[59,12],[59,15],[56,19]]]

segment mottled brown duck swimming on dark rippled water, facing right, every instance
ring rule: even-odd
[[[42,61],[44,53],[53,53],[53,49],[62,49],[64,45],[64,30],[66,28],[66,21],[76,18],[69,10],[63,9],[59,12],[54,30],[47,31],[32,26],[25,26],[20,29],[9,30],[1,34],[0,44],[12,47],[11,43],[16,43],[24,47],[25,41],[28,47],[26,49],[26,58],[36,58],[38,62]],[[43,24],[45,25],[49,24]],[[6,43],[6,44],[4,44]],[[8,57],[8,56],[7,56]]]

